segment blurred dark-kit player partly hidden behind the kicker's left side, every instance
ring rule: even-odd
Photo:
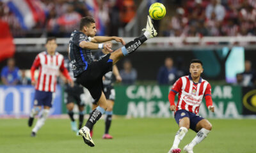
[[[71,129],[74,132],[77,132],[77,124],[76,120],[74,119],[74,102],[76,102],[79,110],[79,126],[78,128],[81,129],[83,126],[84,121],[84,102],[81,100],[81,96],[84,94],[84,89],[82,85],[79,85],[74,78],[73,71],[72,71],[72,64],[68,57],[65,57],[64,66],[68,69],[69,75],[74,80],[74,87],[71,87],[70,84],[65,84],[65,92],[64,92],[64,103],[67,106],[68,116],[71,120]],[[66,80],[65,80],[66,81]]]

